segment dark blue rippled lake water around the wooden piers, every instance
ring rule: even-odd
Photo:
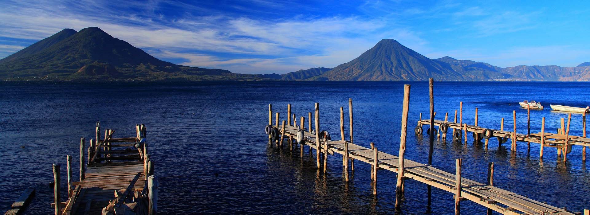
[[[419,113],[428,115],[427,82],[195,82],[165,84],[125,83],[6,83],[0,84],[0,205],[8,206],[27,187],[37,189],[29,214],[51,214],[51,164],[65,168],[65,156],[76,159],[80,137],[94,135],[94,123],[116,130],[114,137],[135,136],[135,124],[145,123],[155,173],[160,178],[162,214],[394,214],[395,174],[379,172],[378,196],[372,196],[369,165],[358,162],[348,192],[340,156],[328,158],[326,177],[317,176],[315,156],[305,151],[278,149],[267,143],[264,125],[268,104],[285,120],[287,103],[297,117],[307,118],[320,102],[320,128],[339,137],[339,107],[348,113],[353,98],[355,143],[398,154],[404,84],[411,84],[406,158],[427,162],[428,136],[416,137]],[[586,82],[435,82],[437,119],[454,117],[464,102],[464,122],[473,124],[479,108],[483,127],[512,130],[516,110],[519,133],[526,133],[526,110],[517,102],[586,107]],[[532,132],[555,133],[566,114],[531,111]],[[581,135],[581,115],[572,115],[571,134]],[[273,120],[274,121],[274,120]],[[307,119],[306,119],[307,121]],[[299,121],[297,122],[299,123]],[[345,120],[348,124],[348,118]],[[523,126],[523,124],[525,126]],[[348,126],[346,133],[348,135]],[[450,135],[449,135],[450,136]],[[21,148],[24,146],[24,148]],[[568,163],[539,144],[499,146],[490,139],[468,144],[435,141],[434,166],[454,173],[455,158],[463,158],[463,176],[484,182],[487,163],[495,162],[494,184],[558,207],[590,208],[590,170],[574,146]],[[62,178],[65,178],[65,170]],[[218,176],[215,176],[218,173]],[[74,168],[74,178],[77,178]],[[62,190],[67,190],[64,183]],[[62,192],[65,199],[65,191]],[[426,186],[408,180],[402,214],[453,214],[453,194],[433,188],[427,208]],[[485,208],[461,203],[465,214],[484,214]]]

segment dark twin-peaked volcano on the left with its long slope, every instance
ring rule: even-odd
[[[63,29],[4,59],[5,80],[266,80],[161,61],[100,28]]]

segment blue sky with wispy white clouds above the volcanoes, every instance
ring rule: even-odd
[[[389,38],[499,67],[590,61],[588,1],[0,1],[0,58],[94,26],[165,61],[239,73],[336,67]]]

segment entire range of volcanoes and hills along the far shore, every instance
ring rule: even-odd
[[[283,80],[283,81],[590,81],[590,62],[577,67],[501,68],[448,56],[430,59],[394,39],[383,39],[335,68],[287,74],[236,74],[161,61],[100,28],[63,29],[4,59],[3,80]]]

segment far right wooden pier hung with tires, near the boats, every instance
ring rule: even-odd
[[[445,140],[447,138],[447,133],[449,128],[453,129],[451,133],[453,134],[454,141],[461,141],[463,140],[467,143],[468,133],[472,133],[474,141],[481,141],[484,140],[485,145],[487,147],[489,143],[489,139],[492,137],[496,137],[499,144],[506,143],[509,139],[511,145],[511,151],[516,151],[517,142],[526,142],[527,146],[530,148],[530,143],[539,144],[540,153],[539,157],[543,158],[543,148],[544,147],[555,147],[558,149],[558,156],[563,154],[563,162],[568,160],[568,154],[572,151],[572,145],[581,145],[582,146],[582,161],[586,160],[586,146],[590,146],[590,138],[586,137],[586,114],[582,114],[582,134],[581,135],[573,135],[570,134],[570,124],[572,121],[572,114],[568,115],[567,124],[565,123],[565,118],[561,118],[561,128],[557,128],[557,133],[549,133],[546,131],[545,127],[545,117],[542,118],[541,124],[541,131],[539,133],[530,133],[530,110],[527,111],[527,122],[521,124],[519,127],[526,127],[527,134],[517,133],[516,125],[518,124],[516,121],[516,111],[513,111],[513,129],[512,130],[504,130],[504,118],[501,118],[500,129],[492,129],[492,128],[485,128],[481,127],[477,124],[478,120],[478,109],[476,108],[475,111],[475,121],[473,125],[467,124],[463,122],[463,102],[460,104],[459,108],[460,112],[458,115],[458,122],[457,122],[457,110],[455,110],[455,117],[453,121],[448,120],[448,113],[445,114],[445,120],[422,120],[422,114],[420,114],[420,120],[418,120],[418,125],[414,129],[414,132],[417,135],[422,134],[422,126],[428,125],[428,130],[430,131],[430,127],[434,128],[433,131],[436,133],[432,135],[432,137],[437,136]],[[522,132],[520,129],[519,132]],[[427,132],[430,134],[430,132]]]

